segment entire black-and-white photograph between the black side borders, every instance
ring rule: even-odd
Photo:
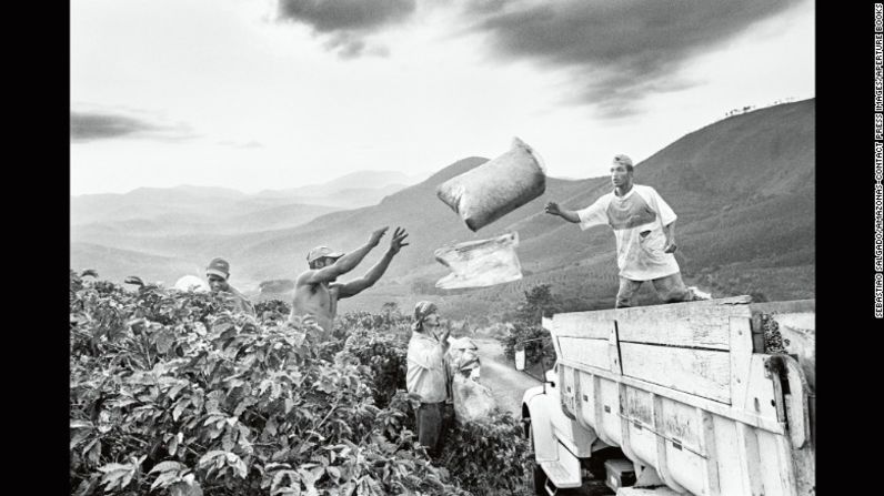
[[[816,495],[815,2],[69,16],[71,495]]]

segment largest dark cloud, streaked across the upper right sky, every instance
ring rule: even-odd
[[[471,31],[488,34],[493,53],[573,70],[573,100],[615,118],[644,95],[696,84],[679,79],[684,62],[802,1],[474,0],[466,11],[491,12]]]

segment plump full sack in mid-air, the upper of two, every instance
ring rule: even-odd
[[[546,191],[543,160],[519,138],[506,153],[440,184],[436,196],[475,232]]]

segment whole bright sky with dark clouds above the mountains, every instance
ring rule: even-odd
[[[810,0],[73,0],[71,194],[438,171],[559,178],[813,98]]]

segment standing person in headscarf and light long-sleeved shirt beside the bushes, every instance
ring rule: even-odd
[[[435,304],[418,302],[409,341],[405,386],[409,393],[420,396],[421,406],[415,412],[418,442],[426,453],[438,456],[441,448],[443,417],[448,393],[445,351],[450,330],[441,330]]]

